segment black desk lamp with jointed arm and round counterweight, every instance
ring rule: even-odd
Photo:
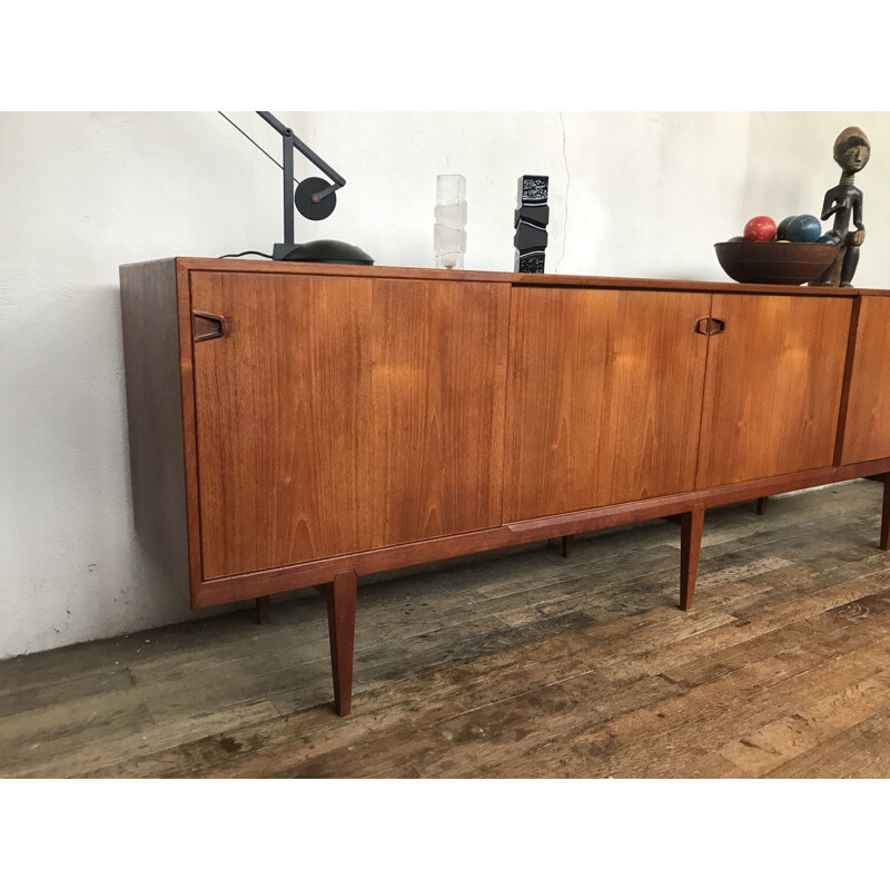
[[[305,142],[297,138],[289,127],[285,127],[278,118],[268,111],[257,111],[263,120],[281,135],[284,146],[284,198],[285,198],[285,237],[283,244],[273,247],[273,259],[284,259],[301,263],[349,263],[363,266],[374,265],[360,247],[323,239],[294,244],[294,207],[307,219],[326,219],[337,206],[338,188],[346,185],[346,180],[330,166],[325,164]],[[253,141],[253,140],[251,140]],[[308,158],[322,172],[329,176],[334,182],[328,182],[317,176],[303,179],[294,191],[294,149]]]

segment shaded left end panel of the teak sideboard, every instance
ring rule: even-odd
[[[185,590],[188,536],[174,261],[121,266],[120,308],[136,531],[170,581]]]

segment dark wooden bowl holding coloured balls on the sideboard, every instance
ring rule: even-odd
[[[802,285],[818,278],[838,256],[837,244],[725,241],[715,244],[723,271],[748,285]]]

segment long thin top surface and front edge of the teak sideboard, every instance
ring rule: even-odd
[[[423,278],[443,281],[490,281],[534,287],[587,287],[644,290],[706,290],[728,294],[789,294],[802,297],[835,297],[851,299],[860,295],[890,297],[890,290],[857,288],[802,287],[788,285],[753,285],[735,281],[685,281],[666,278],[616,278],[592,275],[530,275],[505,271],[449,270],[408,268],[402,266],[358,266],[333,263],[281,263],[269,259],[212,259],[207,257],[175,257],[181,273],[226,271],[268,273],[276,275],[327,275],[367,278]],[[170,258],[151,260],[169,263]],[[127,264],[140,266],[144,264]],[[126,266],[121,266],[126,268]]]

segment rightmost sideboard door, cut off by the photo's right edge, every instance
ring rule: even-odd
[[[841,463],[890,455],[890,299],[861,297],[848,383]]]

